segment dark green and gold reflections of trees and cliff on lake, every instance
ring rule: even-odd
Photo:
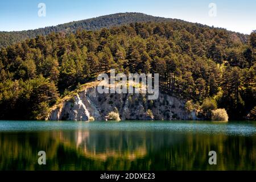
[[[0,169],[255,170],[255,137],[151,131],[0,133]],[[39,166],[38,151],[47,154]],[[208,152],[217,152],[217,165]]]

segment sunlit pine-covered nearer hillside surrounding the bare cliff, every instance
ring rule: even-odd
[[[253,118],[256,32],[243,38],[173,21],[27,39],[0,51],[0,119],[43,118],[59,97],[110,68],[159,73],[163,92],[191,109],[210,100],[230,119]]]

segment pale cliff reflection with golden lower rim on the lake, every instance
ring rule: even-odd
[[[53,138],[59,138],[70,147],[76,147],[77,152],[86,158],[106,161],[108,158],[125,158],[136,160],[147,155],[147,151],[179,142],[181,138],[147,132],[127,131],[89,131],[77,130],[59,131],[53,133]]]

